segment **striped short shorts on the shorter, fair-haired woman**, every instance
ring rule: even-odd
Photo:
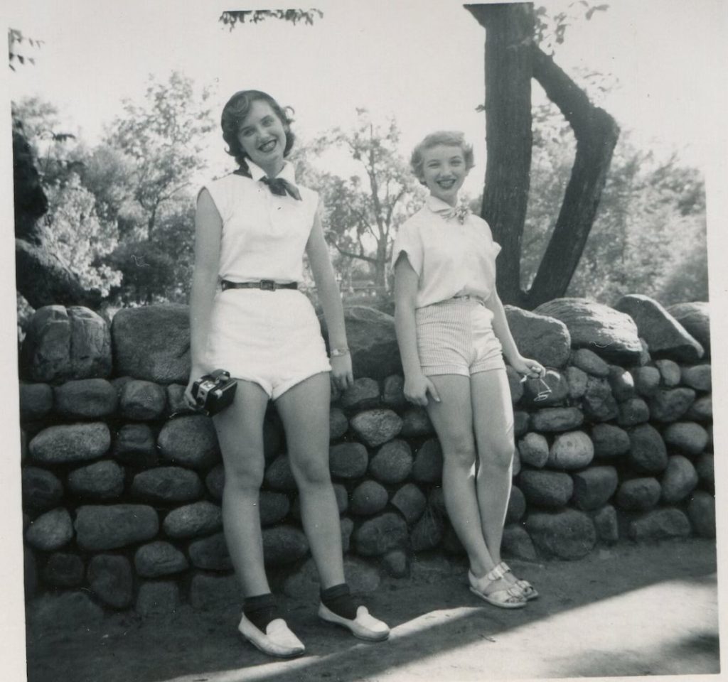
[[[458,297],[415,310],[417,351],[422,372],[462,374],[504,369],[493,313],[480,300]]]

